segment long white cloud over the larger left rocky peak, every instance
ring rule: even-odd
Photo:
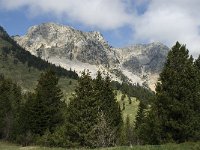
[[[7,10],[26,8],[29,15],[52,14],[63,20],[99,29],[116,29],[129,24],[133,15],[129,0],[0,0]]]

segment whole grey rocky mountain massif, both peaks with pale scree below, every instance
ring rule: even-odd
[[[82,32],[55,23],[30,27],[26,35],[14,40],[33,55],[78,73],[89,69],[95,75],[103,70],[113,80],[150,87],[157,81],[169,51],[161,43],[112,48],[100,32]]]

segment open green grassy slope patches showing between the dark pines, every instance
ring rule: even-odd
[[[18,83],[23,91],[33,91],[36,87],[37,80],[40,77],[42,71],[28,67],[27,64],[21,63],[12,54],[8,54],[7,57],[2,55],[2,47],[12,47],[12,44],[0,37],[0,74],[4,74],[6,78],[12,79],[14,82]],[[16,60],[17,63],[14,63]],[[61,87],[64,95],[64,99],[69,101],[72,96],[77,81],[70,78],[60,78],[59,86]],[[121,101],[121,92],[117,92],[117,100],[122,108],[123,102]],[[137,113],[138,101],[135,98],[132,99],[132,104],[129,104],[128,97],[125,98],[125,110],[122,111],[123,118],[125,119],[129,115],[131,122],[135,120]]]

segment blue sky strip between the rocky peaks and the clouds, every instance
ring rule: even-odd
[[[105,39],[115,47],[123,47],[133,43],[133,41],[131,41],[132,29],[128,26],[118,28],[117,30],[101,30],[95,27],[84,26],[80,23],[59,20],[58,18],[51,17],[49,15],[42,15],[32,18],[26,15],[25,10],[0,11],[0,18],[0,25],[6,29],[9,35],[24,35],[30,26],[45,22],[56,22],[59,24],[72,26],[75,29],[82,31],[101,31]]]

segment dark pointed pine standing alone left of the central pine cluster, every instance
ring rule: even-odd
[[[30,98],[29,128],[34,134],[43,135],[45,130],[53,132],[62,123],[62,92],[58,87],[58,78],[54,71],[47,70],[41,74],[35,90],[35,95]]]

